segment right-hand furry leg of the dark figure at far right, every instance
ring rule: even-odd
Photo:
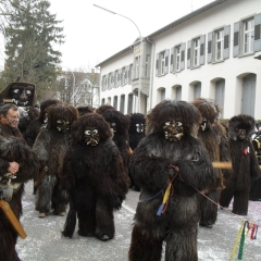
[[[232,212],[238,215],[247,215],[248,198],[249,198],[249,190],[246,189],[246,190],[235,191]]]

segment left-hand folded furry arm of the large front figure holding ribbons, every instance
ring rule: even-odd
[[[147,138],[137,147],[128,162],[130,175],[146,191],[159,192],[167,185],[170,161],[153,154],[153,144]]]

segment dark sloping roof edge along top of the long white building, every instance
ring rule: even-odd
[[[177,26],[177,25],[179,25],[179,24],[182,24],[182,23],[184,23],[184,22],[186,22],[186,21],[188,21],[188,20],[190,20],[190,18],[192,18],[192,17],[203,13],[203,12],[206,12],[206,11],[209,11],[210,9],[215,8],[216,5],[219,5],[219,4],[223,3],[223,2],[226,2],[226,1],[228,1],[228,0],[215,0],[215,1],[213,1],[213,2],[202,7],[200,9],[197,9],[196,11],[194,11],[194,12],[191,12],[191,13],[189,13],[189,14],[187,14],[187,15],[185,15],[185,16],[176,20],[176,21],[174,21],[173,23],[162,27],[161,29],[156,30],[154,33],[148,35],[145,38],[152,39],[153,37],[160,35],[160,34],[162,34],[162,33],[164,33],[164,32],[166,32],[166,30],[169,30],[169,29],[171,29],[171,28],[173,28],[173,27],[175,27],[175,26]],[[129,49],[133,48],[134,44],[132,44],[130,46],[128,46],[125,49],[121,50],[120,52],[116,52],[115,54],[113,54],[112,57],[105,59],[104,61],[100,62],[99,64],[96,65],[96,67],[99,67],[100,65],[102,65],[102,64],[113,60],[114,58],[120,57],[124,52],[128,51]]]

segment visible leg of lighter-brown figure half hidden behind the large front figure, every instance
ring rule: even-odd
[[[213,200],[214,202],[219,203],[219,191],[216,189],[211,190],[209,194],[206,195],[208,198]],[[201,219],[200,225],[211,228],[212,225],[216,221],[217,216],[217,204],[213,203],[209,199],[201,196],[200,200],[200,209],[201,209]]]

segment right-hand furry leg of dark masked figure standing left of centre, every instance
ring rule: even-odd
[[[96,202],[96,236],[101,240],[114,237],[115,226],[112,207],[105,200],[97,199]]]

